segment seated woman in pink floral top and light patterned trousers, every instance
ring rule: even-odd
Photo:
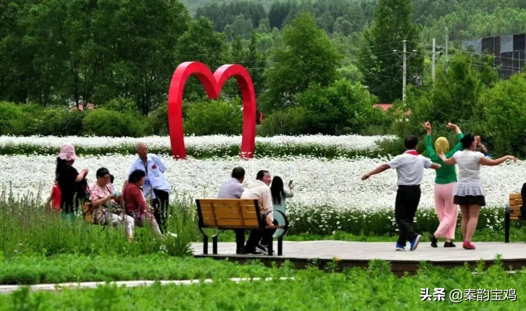
[[[117,215],[108,211],[108,206],[117,205],[116,199],[120,198],[113,195],[113,190],[109,187],[109,170],[99,168],[97,170],[97,182],[92,186],[89,199],[92,203],[93,218],[98,224],[113,224],[117,226],[120,222],[124,223],[128,241],[133,240],[134,220],[122,213]]]

